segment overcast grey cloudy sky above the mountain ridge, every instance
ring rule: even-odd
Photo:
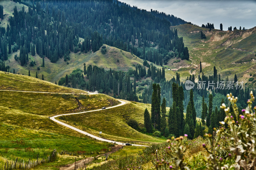
[[[256,0],[120,0],[131,6],[165,12],[198,26],[213,23],[228,30],[229,26],[247,29],[256,26]]]

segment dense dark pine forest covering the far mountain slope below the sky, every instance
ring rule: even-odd
[[[180,18],[140,10],[118,1],[22,3],[28,5],[28,12],[24,8],[17,11],[15,7],[7,29],[1,28],[2,61],[8,60],[7,45],[9,54],[20,50],[15,59],[26,66],[30,52],[55,63],[60,58],[69,60],[70,51],[95,52],[103,43],[157,65],[174,56],[181,60],[189,58],[182,37],[178,37],[176,29],[169,28],[186,23]],[[79,38],[84,41],[80,43]],[[170,51],[173,54],[169,56]]]

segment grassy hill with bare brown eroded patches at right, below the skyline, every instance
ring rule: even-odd
[[[190,55],[190,64],[179,69],[179,72],[189,72],[197,76],[201,61],[206,75],[212,75],[213,66],[216,66],[222,78],[229,76],[233,79],[235,74],[239,81],[248,82],[250,77],[255,78],[256,27],[245,31],[213,29],[211,32],[207,28],[190,24],[171,28],[178,29],[178,35],[183,37]],[[201,39],[201,31],[206,35],[206,39]],[[173,67],[177,68],[178,63],[173,64]]]

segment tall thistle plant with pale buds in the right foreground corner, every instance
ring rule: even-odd
[[[248,106],[246,109],[242,110],[243,115],[239,115],[236,106],[237,97],[235,98],[232,96],[232,93],[227,95],[237,121],[235,121],[234,116],[231,115],[229,107],[226,108],[224,103],[220,106],[226,113],[225,120],[220,122],[220,125],[223,126],[227,124],[228,129],[220,127],[220,129],[216,131],[217,136],[214,144],[212,143],[212,135],[205,134],[205,137],[208,138],[210,144],[209,147],[203,145],[209,153],[207,169],[230,169],[231,166],[234,166],[237,170],[256,169],[256,107],[253,108],[252,106],[252,103],[255,100],[252,91],[250,95],[251,99],[247,101]],[[229,145],[220,149],[231,152],[231,154],[228,154],[229,158],[225,163],[222,162],[223,158],[217,158],[216,156],[216,150],[220,146],[219,144],[222,136],[225,136],[228,139]]]

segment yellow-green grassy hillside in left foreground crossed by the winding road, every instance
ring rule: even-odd
[[[53,149],[57,149],[57,152],[62,150],[96,152],[108,147],[107,143],[88,139],[76,131],[51,121],[48,116],[114,106],[119,104],[116,99],[104,94],[87,95],[82,90],[66,88],[37,78],[8,74],[3,71],[0,71],[0,78],[0,90],[56,92],[0,91],[0,165],[7,159],[18,158],[19,161],[24,159],[26,162],[29,158],[30,161],[36,160],[37,156],[40,159],[46,158]],[[76,99],[81,102],[81,107],[77,105]],[[84,127],[82,128],[92,130],[88,132],[95,135],[98,135],[98,129],[108,127],[108,132],[106,132],[107,129],[102,130],[106,133],[106,135],[103,133],[106,138],[144,142],[163,141],[142,134],[126,124],[126,120],[133,118],[142,125],[143,111],[146,107],[149,108],[149,105],[128,102],[124,107],[92,112],[88,114],[90,119],[84,119],[83,115],[79,115],[79,119],[82,118],[84,123],[88,121],[87,125],[82,124]],[[81,125],[81,120],[66,117],[72,119],[73,126]],[[99,120],[101,121],[99,122]],[[114,131],[118,133],[114,133]],[[135,138],[138,139],[135,140]],[[74,156],[58,155],[57,161],[51,163],[51,166],[60,167],[72,163],[74,159]],[[77,159],[82,159],[82,157]]]

